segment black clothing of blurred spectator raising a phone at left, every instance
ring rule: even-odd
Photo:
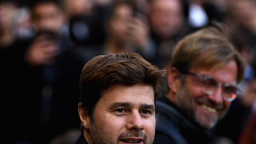
[[[45,144],[81,124],[77,105],[84,62],[63,48],[54,64],[31,66],[25,58],[31,41],[0,46],[1,96],[8,104],[4,131],[9,137],[14,129],[18,133],[10,143]]]

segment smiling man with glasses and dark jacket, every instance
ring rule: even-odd
[[[211,143],[208,130],[226,115],[243,76],[244,61],[222,24],[183,38],[172,54],[166,97],[156,102],[154,144]]]

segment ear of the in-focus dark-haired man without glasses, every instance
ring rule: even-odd
[[[82,108],[82,103],[78,104],[78,113],[83,127],[89,129],[91,126],[91,119],[87,110]]]

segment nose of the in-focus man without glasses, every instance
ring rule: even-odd
[[[141,131],[144,129],[144,123],[138,111],[133,111],[127,117],[127,129]]]

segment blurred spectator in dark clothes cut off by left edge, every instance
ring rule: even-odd
[[[0,63],[1,70],[1,82],[4,84],[3,90],[8,91],[7,87],[11,86],[11,80],[7,77],[10,73],[14,73],[16,68],[20,68],[21,60],[23,59],[23,53],[28,46],[26,38],[21,38],[17,34],[16,23],[14,18],[16,12],[20,8],[19,1],[15,0],[1,0],[0,1]],[[12,76],[10,74],[10,76]],[[13,76],[15,77],[15,76]],[[9,85],[10,84],[10,85]],[[2,93],[9,98],[9,94]]]

